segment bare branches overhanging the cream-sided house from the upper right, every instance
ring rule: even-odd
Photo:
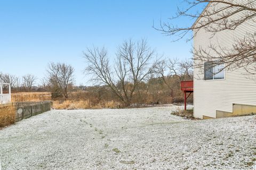
[[[204,62],[213,62],[215,65],[225,64],[223,69],[243,68],[255,74],[256,67],[256,1],[231,1],[231,0],[186,0],[185,10],[178,8],[176,16],[170,18],[169,22],[162,22],[155,29],[171,36],[173,41],[187,38],[192,39],[201,30],[215,35],[226,30],[236,30],[240,25],[250,24],[255,27],[253,31],[245,33],[242,38],[237,38],[230,48],[211,44],[207,48],[194,48],[194,60],[196,67],[203,67]],[[205,10],[198,12],[198,8]],[[183,17],[197,20],[196,24],[187,27],[174,26],[176,19]],[[192,31],[194,31],[193,36]],[[199,61],[199,62],[197,62]],[[247,69],[250,66],[250,69]],[[222,69],[222,70],[223,70]],[[222,71],[220,70],[220,71]]]

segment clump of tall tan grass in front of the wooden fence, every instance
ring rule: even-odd
[[[0,128],[15,123],[16,109],[14,106],[0,107]]]

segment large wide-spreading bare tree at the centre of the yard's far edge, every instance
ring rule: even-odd
[[[105,48],[87,48],[84,58],[88,63],[85,73],[92,74],[98,84],[106,84],[126,106],[131,105],[138,85],[155,72],[158,61],[144,39],[137,43],[125,40],[113,57],[114,65]]]

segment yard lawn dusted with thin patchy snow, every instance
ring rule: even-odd
[[[53,110],[0,130],[2,169],[252,169],[256,116],[190,121],[178,106]]]

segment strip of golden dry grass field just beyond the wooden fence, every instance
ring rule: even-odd
[[[50,92],[17,92],[12,94],[12,102],[51,100]]]

